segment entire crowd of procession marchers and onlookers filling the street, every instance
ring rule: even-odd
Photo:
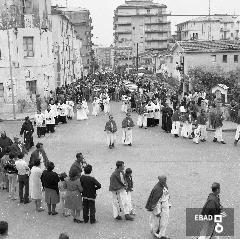
[[[129,90],[124,81],[136,84],[137,90]],[[0,183],[1,188],[8,191],[9,198],[19,199],[19,202],[24,204],[34,200],[36,211],[42,212],[44,197],[49,216],[58,214],[56,206],[59,204],[61,214],[64,217],[71,215],[74,223],[96,223],[96,192],[101,189],[101,184],[91,176],[93,168],[85,162],[81,153],[76,155],[76,161],[68,174],[57,174],[54,171],[55,165],[48,159],[42,143],[36,144],[36,150],[31,153],[28,164],[26,154],[34,146],[34,125],[40,138],[47,133],[54,133],[59,123],[66,124],[75,114],[77,120],[88,119],[90,110],[93,116],[98,116],[101,111],[109,115],[104,131],[107,146],[113,149],[116,146],[118,128],[113,115],[110,114],[111,100],[121,100],[122,106],[119,110],[126,113],[121,125],[124,145],[133,145],[135,123],[131,117],[132,112],[138,114],[136,125],[139,128],[157,127],[162,123],[162,129],[166,133],[172,133],[176,138],[181,136],[193,139],[196,144],[206,141],[207,123],[210,122],[215,129],[213,141],[225,144],[222,136],[224,117],[221,106],[217,100],[208,101],[205,92],[192,92],[180,97],[177,92],[167,90],[163,83],[151,79],[138,80],[129,75],[99,74],[51,92],[47,109],[42,112],[41,104],[38,105],[34,124],[29,117],[25,118],[20,130],[23,142],[18,136],[15,136],[12,142],[6,132],[1,132]],[[88,102],[92,104],[90,110]],[[240,136],[240,117],[237,119],[239,125],[235,145]],[[135,218],[131,202],[132,169],[124,169],[124,162],[118,161],[110,177],[109,191],[112,193],[113,217],[116,220],[125,218],[132,221]],[[171,208],[166,181],[166,176],[158,177],[158,183],[146,204],[146,209],[151,214],[151,232],[160,239],[167,238],[166,229]],[[216,201],[220,185],[214,184],[212,188],[215,196],[211,200]],[[219,201],[216,207],[220,207]],[[67,235],[62,234],[61,238],[67,238],[64,236]]]

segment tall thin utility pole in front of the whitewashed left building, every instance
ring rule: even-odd
[[[9,12],[7,7],[7,0],[5,0],[5,6],[7,11],[7,38],[8,38],[8,56],[9,56],[9,71],[10,71],[10,80],[12,88],[12,104],[13,104],[13,119],[16,119],[16,110],[15,110],[15,97],[13,89],[13,72],[12,72],[12,56],[11,56],[11,43],[10,43],[10,33],[9,33]]]

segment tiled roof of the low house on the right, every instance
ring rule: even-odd
[[[240,41],[178,41],[184,52],[222,52],[240,51]]]

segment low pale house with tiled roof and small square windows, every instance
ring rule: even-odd
[[[165,65],[169,75],[179,78],[178,66],[184,74],[190,68],[204,66],[229,72],[240,68],[240,44],[234,41],[181,41],[166,54]]]

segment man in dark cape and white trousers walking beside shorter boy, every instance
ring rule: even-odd
[[[133,221],[129,215],[129,207],[127,200],[126,184],[124,179],[124,162],[117,161],[116,169],[110,177],[109,191],[112,192],[113,217],[116,220],[122,220],[125,216],[126,220]]]

